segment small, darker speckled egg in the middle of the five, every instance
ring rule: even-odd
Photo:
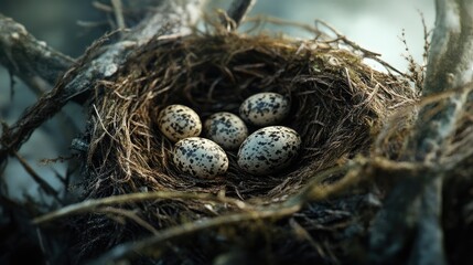
[[[238,149],[248,137],[245,123],[235,114],[216,113],[204,123],[205,137],[217,142],[225,150]]]

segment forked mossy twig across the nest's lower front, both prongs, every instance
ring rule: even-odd
[[[304,188],[302,192],[297,195],[293,195],[288,201],[281,204],[271,204],[266,206],[254,206],[247,204],[240,200],[225,198],[225,197],[215,197],[206,193],[185,193],[185,192],[149,192],[149,193],[132,193],[117,197],[108,197],[98,200],[88,200],[80,202],[78,204],[68,205],[63,209],[60,209],[55,212],[39,216],[33,220],[35,224],[44,224],[51,221],[54,221],[60,218],[69,216],[73,214],[80,213],[97,213],[97,212],[111,212],[117,213],[127,218],[131,218],[136,222],[141,223],[142,220],[136,220],[136,216],[130,216],[128,213],[120,212],[119,210],[107,210],[114,204],[121,203],[133,203],[141,202],[146,200],[155,200],[155,199],[165,199],[165,200],[198,200],[198,201],[209,201],[218,203],[228,203],[244,210],[239,213],[232,213],[226,215],[219,215],[211,219],[203,219],[195,222],[189,222],[181,225],[172,226],[169,229],[154,231],[154,229],[148,227],[154,235],[142,241],[135,241],[131,243],[123,243],[118,246],[115,246],[109,252],[103,254],[98,259],[94,261],[92,264],[103,264],[105,261],[117,261],[120,258],[129,257],[132,258],[135,255],[144,254],[148,251],[157,251],[157,247],[166,247],[166,244],[171,240],[176,240],[191,234],[196,234],[202,231],[217,229],[221,226],[228,227],[230,225],[241,224],[243,222],[249,222],[255,220],[281,220],[288,216],[293,215],[294,213],[301,211],[305,203],[322,201],[329,197],[341,194],[346,192],[347,188],[359,183],[359,181],[369,180],[364,178],[366,174],[362,173],[348,173],[341,181],[323,187],[323,182],[327,177],[333,174],[344,173],[347,170],[363,170],[366,168],[373,168],[375,170],[380,170],[384,172],[398,172],[399,176],[405,176],[406,171],[417,171],[422,168],[421,165],[415,163],[398,163],[387,159],[377,158],[377,159],[367,159],[367,158],[357,158],[353,162],[348,162],[342,167],[335,167],[327,170],[324,170],[315,174],[310,183]],[[373,174],[372,177],[384,176],[384,174]]]

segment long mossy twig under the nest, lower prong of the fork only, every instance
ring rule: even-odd
[[[246,208],[244,212],[232,213],[227,215],[219,215],[211,219],[197,220],[194,222],[184,223],[181,225],[172,226],[159,231],[159,234],[144,239],[142,241],[135,241],[131,243],[120,244],[109,252],[103,254],[99,258],[90,264],[104,264],[106,261],[119,261],[121,258],[133,258],[137,255],[146,254],[148,252],[157,253],[159,247],[165,247],[165,243],[172,240],[176,240],[183,236],[196,234],[206,230],[217,227],[229,227],[232,225],[238,225],[244,222],[250,221],[262,221],[271,220],[278,221],[284,218],[289,218],[297,212],[300,212],[303,206],[309,202],[322,201],[327,199],[330,195],[336,195],[346,192],[347,188],[359,183],[359,181],[368,180],[364,178],[365,174],[348,173],[341,181],[323,187],[321,181],[327,177],[341,172],[345,172],[350,169],[361,170],[366,167],[374,167],[378,170],[391,170],[404,174],[405,171],[417,170],[418,165],[412,163],[397,163],[383,158],[379,159],[365,159],[358,158],[357,161],[347,163],[342,167],[335,167],[324,170],[313,177],[310,183],[304,188],[302,192],[293,195],[288,201],[281,204],[271,204],[259,208]],[[372,177],[383,176],[373,174]],[[239,202],[239,201],[238,201]]]

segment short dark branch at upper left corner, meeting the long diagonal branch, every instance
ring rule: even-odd
[[[0,13],[0,63],[31,87],[54,84],[74,60],[36,40],[23,25]]]

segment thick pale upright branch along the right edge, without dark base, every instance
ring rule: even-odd
[[[464,86],[473,81],[473,2],[471,0],[437,0],[436,29],[427,65],[424,95]],[[420,112],[413,137],[417,161],[438,163],[456,130],[465,109],[469,92],[449,97],[443,108],[429,116],[439,104]],[[423,119],[423,117],[428,117]],[[420,197],[420,214],[412,264],[447,264],[441,225],[443,174],[434,173],[424,182]]]

